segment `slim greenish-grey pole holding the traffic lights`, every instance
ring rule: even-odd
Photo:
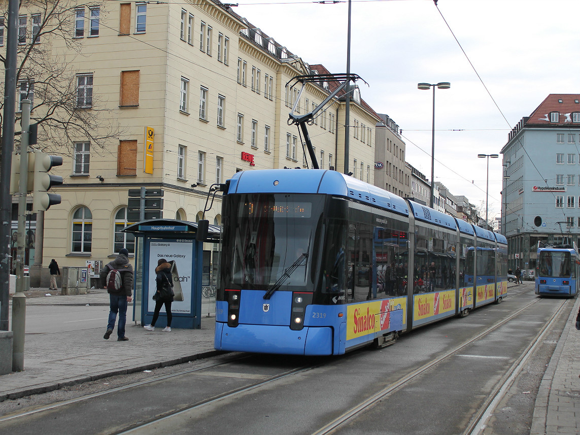
[[[20,189],[18,194],[18,230],[16,248],[16,293],[12,296],[12,371],[24,370],[24,330],[26,328],[26,295],[30,278],[24,276],[26,248],[26,194],[28,190],[28,139],[30,137],[30,100],[22,101],[20,125]]]

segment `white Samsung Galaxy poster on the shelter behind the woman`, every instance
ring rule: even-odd
[[[173,303],[172,313],[191,314],[191,298],[193,283],[193,240],[191,241],[151,241],[149,244],[149,281],[148,300],[150,310],[153,311],[153,294],[155,293],[155,268],[160,259],[165,259],[171,264],[171,277],[173,282]]]

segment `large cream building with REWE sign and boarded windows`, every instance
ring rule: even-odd
[[[129,190],[162,191],[162,206],[151,216],[196,221],[212,184],[237,171],[310,166],[288,113],[311,111],[336,84],[307,83],[300,99],[299,88],[287,84],[296,75],[323,73],[322,65],[307,64],[216,1],[102,2],[90,8],[62,3],[73,13],[63,29],[79,50],[56,35],[37,38],[37,17],[46,10],[24,5],[20,48],[50,44],[55,63],[74,73],[75,110],[99,111],[115,134],[96,144],[78,129],[56,150],[64,154],[63,166],[52,171],[64,177],[55,189],[62,202],[32,224],[44,229],[36,240],[37,252],[41,244],[45,254],[34,259],[38,267],[46,268],[50,258],[61,266],[85,266],[113,258],[121,248],[133,255],[135,240],[121,232],[132,222]],[[42,98],[34,95],[34,77],[22,82],[21,99]],[[353,95],[349,150],[356,157],[349,171],[374,183],[379,119],[358,89]],[[344,107],[338,96],[309,126],[321,168],[344,169]],[[50,134],[42,124],[40,129],[39,137]],[[220,224],[219,198],[205,218]]]

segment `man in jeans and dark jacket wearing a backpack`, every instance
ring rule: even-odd
[[[112,262],[108,263],[99,273],[101,285],[109,293],[109,318],[107,332],[103,338],[108,338],[113,333],[117,313],[119,313],[119,324],[117,325],[117,341],[126,342],[125,324],[127,321],[127,304],[133,300],[133,266],[129,263],[129,251],[125,248],[119,249],[119,255]]]

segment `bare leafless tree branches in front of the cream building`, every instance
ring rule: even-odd
[[[46,151],[73,154],[73,142],[89,140],[92,150],[106,150],[122,131],[112,110],[90,95],[90,104],[79,104],[78,70],[74,60],[84,56],[84,38],[75,38],[77,10],[100,8],[103,0],[73,3],[63,0],[23,0],[21,10],[30,11],[32,23],[19,28],[17,104],[32,100],[31,122],[38,122],[38,143]],[[6,6],[0,7],[8,23]],[[89,17],[90,20],[90,17]],[[5,32],[6,33],[6,32]],[[63,53],[56,47],[62,46]],[[6,59],[0,55],[0,60]],[[86,103],[86,96],[84,96]],[[3,100],[0,102],[2,116]],[[0,118],[1,121],[1,118]],[[16,113],[16,140],[20,137],[20,113]]]

